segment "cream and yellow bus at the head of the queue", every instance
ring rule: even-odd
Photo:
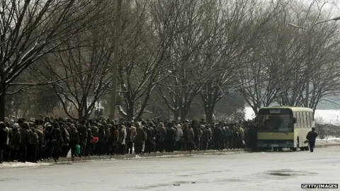
[[[264,107],[257,115],[257,147],[261,150],[308,151],[307,133],[315,127],[313,110],[299,107]]]

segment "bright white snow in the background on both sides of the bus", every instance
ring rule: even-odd
[[[245,117],[246,120],[253,119],[255,117],[254,111],[247,107]],[[340,110],[316,110],[315,120],[323,124],[340,125]]]

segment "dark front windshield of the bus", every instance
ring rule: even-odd
[[[259,130],[268,132],[293,132],[292,115],[260,115]]]

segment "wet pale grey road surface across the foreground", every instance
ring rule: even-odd
[[[302,190],[340,183],[340,147],[0,169],[1,191]]]

